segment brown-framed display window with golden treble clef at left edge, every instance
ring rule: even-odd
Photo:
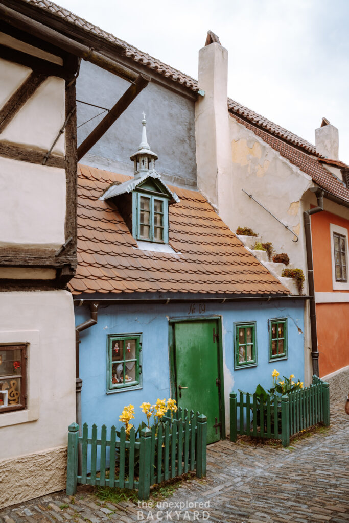
[[[0,414],[27,406],[26,345],[0,345]]]

